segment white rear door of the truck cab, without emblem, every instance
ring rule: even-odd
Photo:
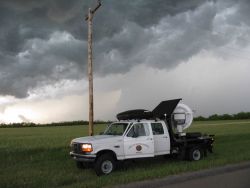
[[[167,127],[161,122],[151,123],[156,155],[170,153],[170,138]]]

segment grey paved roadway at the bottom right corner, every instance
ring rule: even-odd
[[[249,188],[250,162],[120,185],[122,188]]]

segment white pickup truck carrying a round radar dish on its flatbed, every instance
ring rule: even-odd
[[[111,173],[117,161],[175,155],[200,160],[212,152],[213,135],[184,133],[192,113],[181,99],[163,101],[152,112],[130,110],[117,115],[102,135],[71,141],[70,156],[83,168],[91,163],[97,175]]]

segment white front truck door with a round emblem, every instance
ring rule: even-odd
[[[124,136],[125,158],[154,156],[154,139],[148,123],[134,123]]]

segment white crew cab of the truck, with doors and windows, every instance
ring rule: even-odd
[[[120,148],[114,150],[118,159],[154,157],[170,153],[169,133],[164,121],[116,122],[110,124],[103,134],[117,133],[121,136],[121,142],[114,143],[113,148]]]

